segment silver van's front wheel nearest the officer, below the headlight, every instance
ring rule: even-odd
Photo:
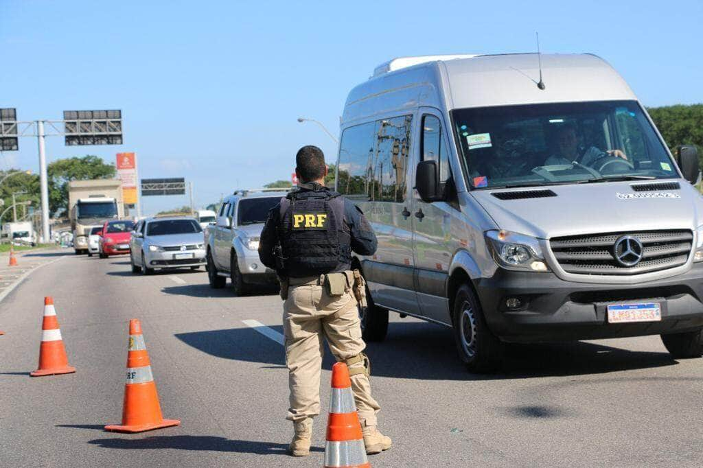
[[[488,329],[481,304],[469,285],[456,292],[453,324],[456,350],[470,372],[491,372],[500,366],[503,344]]]

